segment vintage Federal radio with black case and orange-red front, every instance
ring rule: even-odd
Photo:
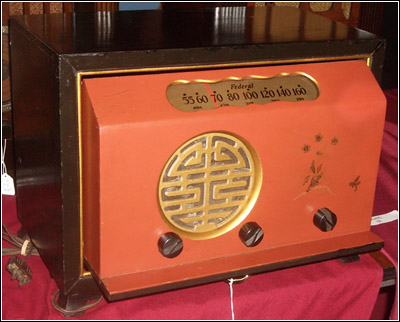
[[[18,216],[67,311],[383,246],[383,40],[279,7],[10,37]]]

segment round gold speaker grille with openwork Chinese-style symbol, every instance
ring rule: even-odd
[[[219,236],[249,214],[261,182],[260,161],[248,142],[227,133],[199,135],[176,150],[163,169],[162,217],[181,236]]]

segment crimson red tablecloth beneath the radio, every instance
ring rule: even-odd
[[[398,209],[397,90],[386,91],[388,112],[373,215]],[[16,234],[19,229],[15,197],[3,196],[3,221]],[[384,252],[397,265],[398,222],[372,227],[385,240]],[[3,242],[3,245],[6,244]],[[8,246],[8,245],[7,245]],[[32,282],[18,287],[10,280],[3,257],[2,318],[5,320],[59,320],[51,298],[55,282],[39,257],[28,264]],[[233,310],[239,320],[364,320],[377,315],[374,306],[382,281],[382,268],[368,255],[343,264],[338,260],[310,264],[251,276],[234,284]],[[397,308],[397,303],[395,304]],[[379,311],[379,310],[378,310]],[[396,310],[394,310],[396,314]],[[375,312],[375,313],[373,313]],[[395,316],[397,318],[397,316]],[[108,303],[104,299],[84,315],[67,319],[87,320],[229,320],[232,319],[230,285],[203,286]]]

